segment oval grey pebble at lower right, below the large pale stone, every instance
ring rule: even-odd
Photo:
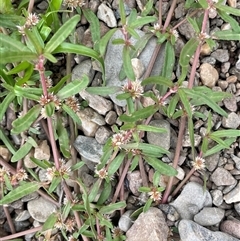
[[[198,214],[194,216],[194,221],[202,226],[211,226],[219,224],[225,211],[216,207],[204,207]]]

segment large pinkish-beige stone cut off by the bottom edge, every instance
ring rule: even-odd
[[[161,210],[150,207],[126,233],[126,241],[167,241],[169,228]]]

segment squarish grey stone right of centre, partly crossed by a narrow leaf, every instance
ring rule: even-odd
[[[153,120],[149,123],[150,126],[164,128],[166,132],[157,133],[157,132],[147,132],[148,143],[156,146],[161,146],[166,150],[170,149],[171,143],[171,131],[170,124],[165,120]]]

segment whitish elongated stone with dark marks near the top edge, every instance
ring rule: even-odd
[[[117,27],[117,21],[111,8],[109,8],[105,3],[102,3],[98,7],[97,16],[100,20],[107,24],[110,28]]]

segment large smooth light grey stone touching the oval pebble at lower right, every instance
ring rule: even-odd
[[[191,195],[189,195],[190,193]],[[203,207],[212,206],[212,197],[208,190],[203,190],[202,185],[189,182],[170,205],[176,208],[181,219],[192,220]]]

